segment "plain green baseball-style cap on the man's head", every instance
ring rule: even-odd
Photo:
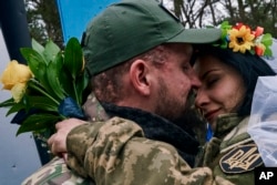
[[[86,68],[99,74],[165,42],[209,43],[219,29],[185,29],[156,0],[123,0],[88,24],[82,39]]]

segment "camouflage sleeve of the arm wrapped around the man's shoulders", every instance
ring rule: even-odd
[[[98,185],[232,184],[214,178],[207,167],[191,168],[172,145],[143,137],[131,121],[113,117],[94,125],[78,126],[69,134],[68,165]]]

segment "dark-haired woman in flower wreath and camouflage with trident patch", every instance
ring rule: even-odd
[[[220,43],[195,47],[194,69],[202,81],[195,105],[213,130],[196,166],[208,166],[236,185],[254,184],[254,169],[264,162],[247,129],[258,78],[276,75],[261,58],[271,55],[271,37],[263,28],[254,32],[226,22],[222,28]]]

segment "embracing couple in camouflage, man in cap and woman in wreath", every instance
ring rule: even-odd
[[[253,94],[276,75],[255,37],[243,24],[185,29],[155,0],[107,7],[82,39],[88,121],[57,123],[48,143],[63,158],[23,184],[254,184],[264,164],[247,133]],[[213,130],[205,145],[187,129],[192,109]]]

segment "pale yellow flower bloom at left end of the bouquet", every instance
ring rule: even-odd
[[[13,60],[9,62],[0,80],[3,84],[3,89],[10,90],[14,101],[19,102],[24,94],[25,84],[31,78],[32,73],[30,69]]]

